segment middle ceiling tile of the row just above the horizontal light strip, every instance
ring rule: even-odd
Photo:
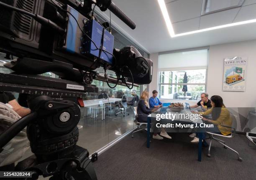
[[[211,28],[218,25],[230,24],[236,17],[240,8],[224,10],[218,13],[212,13],[201,16],[200,29]]]

